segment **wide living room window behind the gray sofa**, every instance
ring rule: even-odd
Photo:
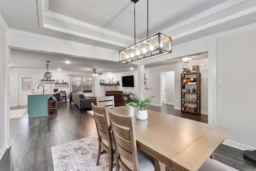
[[[80,93],[92,93],[92,77],[72,76],[72,91]]]

